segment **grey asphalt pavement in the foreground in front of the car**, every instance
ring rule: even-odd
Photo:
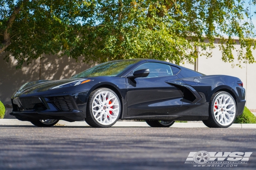
[[[256,129],[0,126],[0,169],[256,168]],[[253,152],[247,164],[195,167],[190,152]],[[216,166],[214,164],[213,166]]]

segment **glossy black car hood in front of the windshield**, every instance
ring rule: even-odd
[[[59,86],[65,83],[71,83],[76,80],[81,80],[82,78],[78,79],[63,79],[63,80],[39,80],[34,82],[29,82],[21,86],[13,95],[13,98],[21,96],[22,94],[30,94],[34,92],[42,92],[49,90],[50,88],[53,88],[55,86]]]

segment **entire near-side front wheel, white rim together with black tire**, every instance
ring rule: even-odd
[[[85,121],[94,128],[108,128],[116,123],[121,113],[120,100],[109,88],[99,88],[91,92]]]

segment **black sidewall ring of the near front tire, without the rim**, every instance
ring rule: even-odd
[[[110,92],[112,92],[115,96],[116,96],[116,98],[117,98],[117,100],[118,100],[118,103],[119,103],[119,113],[118,113],[118,116],[117,116],[117,118],[116,118],[116,120],[113,122],[113,123],[111,123],[111,124],[109,124],[109,125],[103,125],[103,124],[100,124],[96,119],[95,119],[95,117],[94,117],[94,115],[93,115],[93,112],[92,112],[92,102],[94,101],[94,98],[101,92],[101,91],[110,91]],[[116,122],[117,122],[117,120],[119,119],[119,117],[120,117],[120,115],[121,115],[121,110],[122,110],[122,105],[121,105],[121,102],[120,102],[120,99],[119,99],[119,97],[118,97],[118,95],[113,91],[113,90],[111,90],[111,89],[109,89],[109,88],[100,88],[100,89],[96,89],[96,90],[94,90],[93,92],[93,95],[89,98],[89,102],[88,102],[88,116],[90,116],[92,119],[93,119],[93,121],[98,125],[98,126],[100,126],[100,127],[102,127],[102,128],[108,128],[108,127],[110,127],[110,126],[113,126]]]

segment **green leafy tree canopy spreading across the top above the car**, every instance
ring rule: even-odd
[[[196,46],[215,48],[219,37],[222,60],[233,62],[237,36],[239,62],[253,63],[250,17],[242,0],[0,0],[0,52],[9,51],[5,59],[13,55],[19,68],[43,54],[180,64],[194,62]]]

